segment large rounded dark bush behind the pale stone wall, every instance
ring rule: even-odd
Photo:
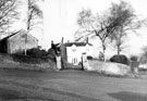
[[[126,64],[126,65],[130,64],[130,60],[128,60],[125,55],[123,55],[123,54],[113,55],[113,56],[110,59],[110,62],[115,62],[115,63],[121,63],[121,64]]]

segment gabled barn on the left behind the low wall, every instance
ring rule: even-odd
[[[22,53],[25,49],[38,47],[38,39],[21,29],[0,40],[1,53]]]

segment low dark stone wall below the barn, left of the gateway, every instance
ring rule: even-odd
[[[54,70],[56,63],[49,58],[16,56],[0,54],[0,68],[48,71]]]

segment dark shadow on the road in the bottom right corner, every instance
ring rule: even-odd
[[[118,93],[108,93],[110,97],[121,100],[121,101],[147,101],[147,94],[120,91]]]

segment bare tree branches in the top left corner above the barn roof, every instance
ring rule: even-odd
[[[0,0],[0,33],[5,33],[10,24],[19,20],[16,0]]]

